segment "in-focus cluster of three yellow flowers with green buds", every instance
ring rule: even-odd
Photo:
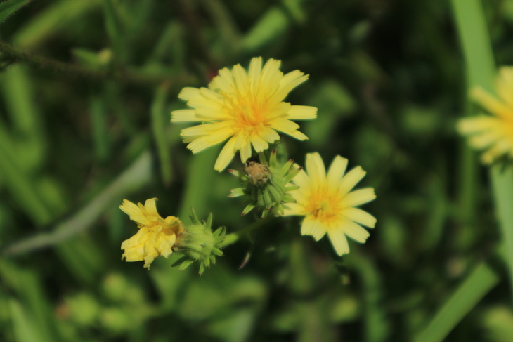
[[[242,215],[258,211],[261,220],[273,216],[303,216],[301,234],[319,240],[327,235],[335,252],[349,253],[346,237],[365,242],[374,228],[376,218],[357,206],[375,199],[372,188],[351,191],[365,171],[356,167],[346,173],[347,159],[335,157],[326,172],[320,154],[306,156],[306,171],[292,159],[277,156],[270,144],[280,144],[279,133],[297,140],[306,140],[292,120],[315,119],[316,107],[291,105],[285,98],[295,87],[308,79],[299,70],[287,74],[280,71],[279,60],[253,58],[246,71],[240,65],[219,70],[208,88],[183,88],[178,98],[190,107],[171,112],[172,122],[196,122],[181,130],[183,142],[193,153],[226,141],[214,169],[223,171],[239,152],[242,167],[230,169],[242,183],[230,190],[228,197],[242,197]],[[282,153],[283,154],[283,153]],[[221,248],[235,242],[237,232],[226,235],[225,228],[212,231],[212,214],[201,222],[195,212],[192,223],[184,225],[178,218],[162,218],[156,199],[145,205],[126,199],[120,208],[138,223],[136,235],[122,244],[126,261],[145,261],[145,267],[157,256],[181,254],[174,263],[180,269],[193,262],[200,264],[200,273],[221,256]]]

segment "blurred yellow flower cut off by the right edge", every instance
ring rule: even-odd
[[[513,157],[513,67],[500,68],[496,81],[499,98],[482,88],[472,91],[472,97],[491,115],[460,119],[457,130],[468,137],[469,145],[476,150],[486,150],[481,155],[484,164],[507,155]]]

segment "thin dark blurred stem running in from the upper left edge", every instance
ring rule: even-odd
[[[162,82],[176,81],[176,76],[173,75],[162,75],[162,74],[144,74],[134,70],[97,70],[82,65],[76,65],[71,63],[60,62],[59,60],[53,60],[51,58],[44,57],[38,53],[32,53],[23,51],[20,48],[15,48],[3,41],[0,41],[0,53],[13,61],[23,61],[40,67],[44,70],[51,70],[53,72],[60,72],[73,77],[84,77],[87,79],[116,79],[131,84],[160,84]],[[184,75],[178,78],[185,79]]]

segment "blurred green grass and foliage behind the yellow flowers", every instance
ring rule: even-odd
[[[512,63],[513,0],[8,0],[0,20],[0,341],[513,341],[488,172],[454,128]],[[124,198],[253,222],[169,113],[254,56],[310,74],[287,100],[318,119],[283,143],[368,171],[368,242],[334,258],[286,218],[201,277],[120,261]]]

